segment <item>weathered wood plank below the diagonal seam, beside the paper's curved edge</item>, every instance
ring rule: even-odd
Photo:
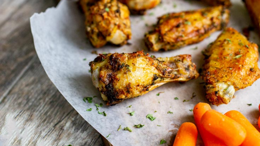
[[[103,145],[100,134],[51,83],[37,57],[0,109],[0,140],[6,140],[6,146]]]

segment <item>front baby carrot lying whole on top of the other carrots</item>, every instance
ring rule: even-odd
[[[200,123],[226,145],[238,146],[245,140],[245,128],[235,120],[215,110],[206,111]]]

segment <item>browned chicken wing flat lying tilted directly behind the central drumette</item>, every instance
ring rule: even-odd
[[[145,44],[150,51],[178,49],[202,41],[228,22],[229,10],[223,6],[166,14],[145,34]]]

